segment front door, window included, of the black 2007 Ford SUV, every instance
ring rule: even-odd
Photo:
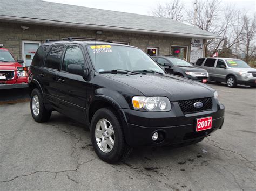
[[[58,102],[60,112],[76,119],[85,121],[87,82],[82,76],[68,72],[70,64],[81,65],[86,68],[83,47],[69,44],[66,47],[62,67],[58,72]]]

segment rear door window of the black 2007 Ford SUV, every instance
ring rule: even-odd
[[[64,45],[53,46],[46,57],[44,67],[59,69],[60,61],[62,59],[62,53],[64,50]]]

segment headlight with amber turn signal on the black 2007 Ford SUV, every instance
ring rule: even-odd
[[[167,97],[134,96],[132,105],[140,111],[170,111],[171,103]]]

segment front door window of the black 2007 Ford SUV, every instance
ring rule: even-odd
[[[78,46],[68,46],[68,48],[66,48],[62,70],[67,71],[68,66],[71,64],[84,66],[83,52]]]

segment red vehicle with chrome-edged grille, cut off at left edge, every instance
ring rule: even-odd
[[[0,45],[0,89],[28,87],[28,68]]]

